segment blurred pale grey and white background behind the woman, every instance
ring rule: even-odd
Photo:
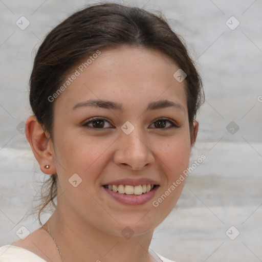
[[[150,248],[178,262],[262,261],[262,2],[114,2],[163,12],[204,81],[191,164],[202,154],[206,159],[189,173]],[[19,239],[22,226],[40,227],[28,214],[47,176],[24,129],[35,51],[54,26],[91,3],[99,2],[0,0],[0,246]]]

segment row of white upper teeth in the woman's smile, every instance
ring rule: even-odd
[[[142,194],[149,192],[154,185],[139,185],[139,186],[131,186],[131,185],[108,185],[108,189],[114,192],[118,192],[120,194]]]

